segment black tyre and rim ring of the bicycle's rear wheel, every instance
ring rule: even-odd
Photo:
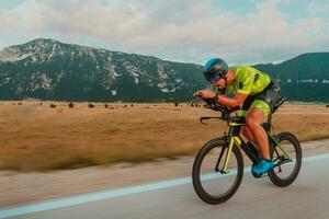
[[[287,141],[294,148],[294,151],[291,151],[290,155],[295,158],[294,159],[295,164],[292,168],[292,171],[291,171],[291,173],[288,173],[287,176],[283,177],[282,175],[280,175],[281,173],[279,172],[279,168],[274,168],[268,172],[270,180],[272,181],[272,183],[274,185],[280,186],[280,187],[285,187],[285,186],[291,185],[296,180],[296,177],[299,173],[299,170],[302,166],[302,149],[300,149],[298,139],[291,132],[281,132],[276,136],[276,139],[279,140],[279,142]],[[280,151],[280,149],[277,151]],[[273,151],[272,157],[275,159],[275,157],[277,157],[277,154]],[[287,164],[283,164],[283,165],[290,165],[290,164],[287,163]]]

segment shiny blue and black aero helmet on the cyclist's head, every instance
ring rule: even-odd
[[[212,58],[204,65],[204,78],[212,82],[223,78],[228,71],[228,65],[220,58]]]

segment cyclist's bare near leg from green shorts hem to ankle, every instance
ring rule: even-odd
[[[268,160],[271,159],[269,140],[268,135],[261,124],[266,122],[269,113],[269,104],[261,100],[254,100],[246,114],[246,123],[254,139],[254,142],[259,146],[262,158]]]

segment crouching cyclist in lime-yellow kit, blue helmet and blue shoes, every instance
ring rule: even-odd
[[[202,99],[214,99],[228,107],[241,106],[240,116],[246,116],[246,126],[242,135],[251,142],[259,146],[261,152],[260,162],[252,168],[256,174],[263,174],[274,166],[270,157],[268,135],[262,123],[266,122],[268,115],[280,97],[280,88],[271,81],[270,76],[250,66],[228,65],[220,58],[209,59],[204,66],[205,79],[218,88],[226,89],[232,97],[218,95],[211,90],[200,90],[194,93]]]

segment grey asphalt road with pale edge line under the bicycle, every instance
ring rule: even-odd
[[[12,209],[14,210],[14,209]],[[227,203],[211,206],[195,195],[190,183],[127,193],[102,200],[50,210],[21,214],[20,219],[208,219],[208,218],[329,218],[329,154],[304,162],[299,176],[288,187],[275,187],[268,177],[245,173],[237,194]],[[4,214],[3,210],[0,211]]]

